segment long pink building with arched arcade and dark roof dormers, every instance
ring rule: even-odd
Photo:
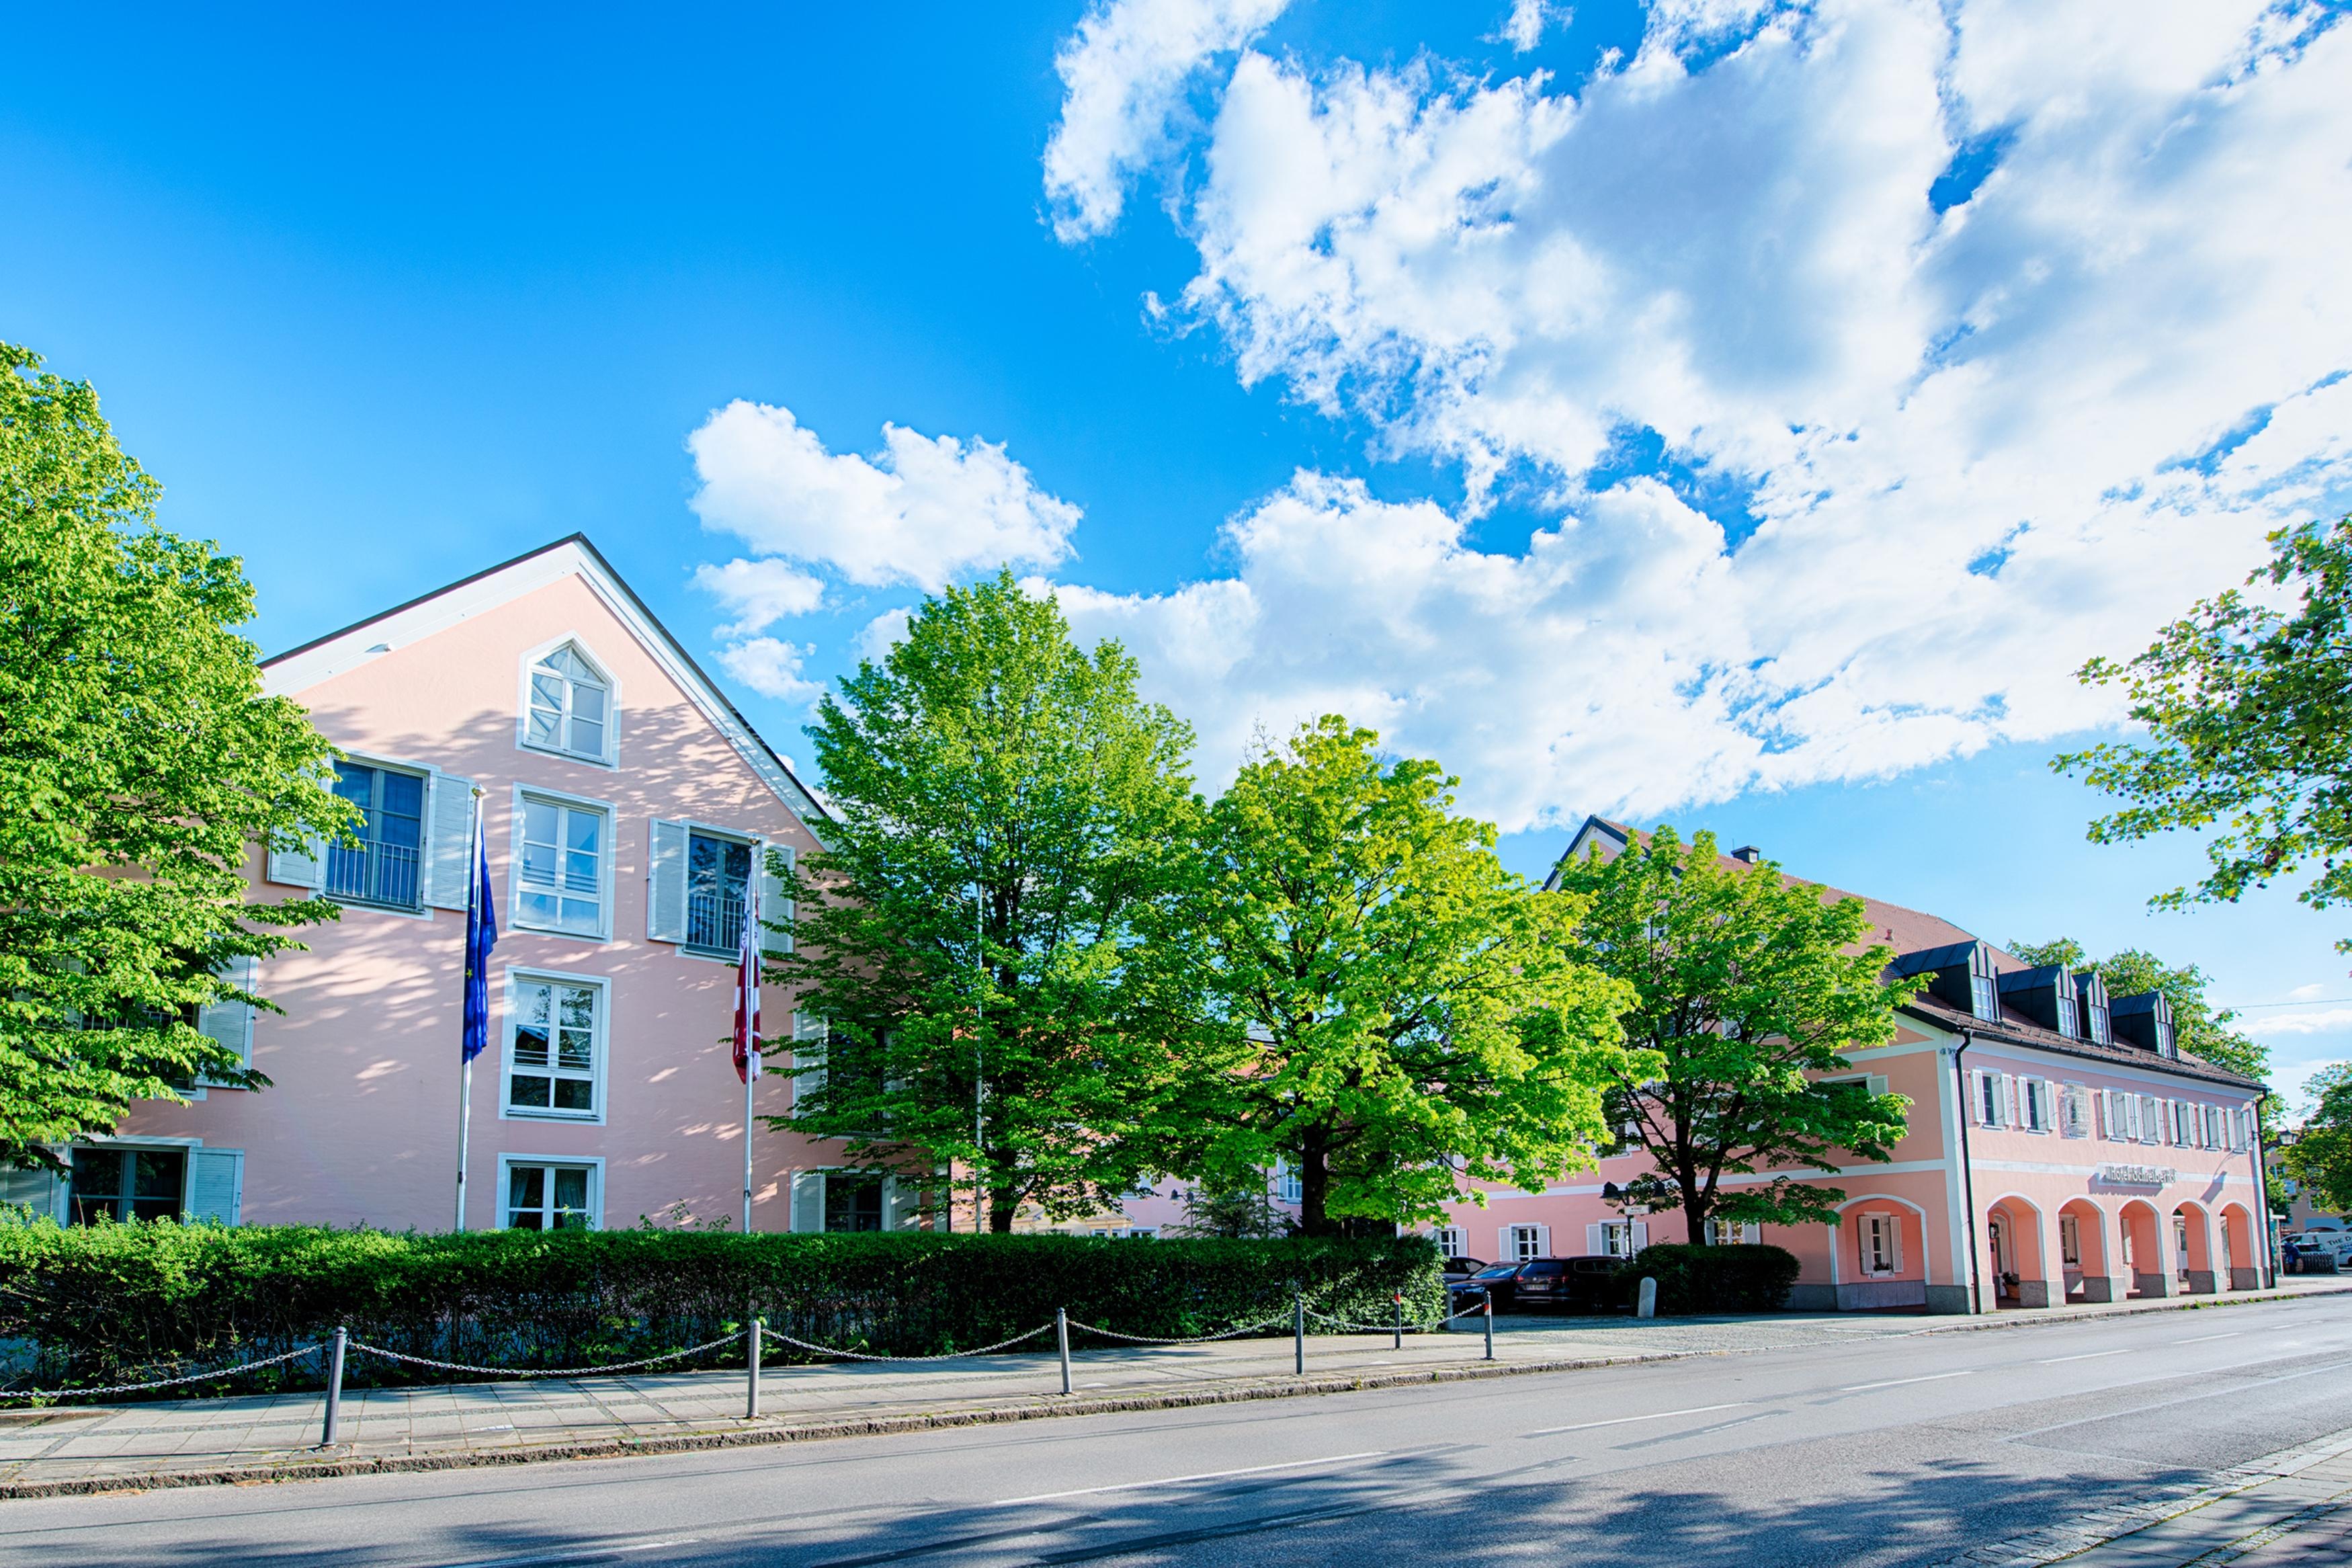
[[[1628,839],[1588,818],[1569,856]],[[1910,1133],[1889,1164],[1823,1178],[1846,1194],[1835,1229],[1717,1239],[1792,1251],[1790,1305],[1806,1309],[1992,1312],[2267,1281],[2260,1084],[2183,1053],[2159,994],[2107,997],[2091,973],[2030,969],[1933,914],[1863,903],[1900,954],[1891,973],[1931,983],[1893,1044],[1851,1056],[1856,1081],[1910,1095]],[[1686,1241],[1679,1215],[1628,1220],[1602,1199],[1649,1168],[1618,1154],[1541,1194],[1486,1190],[1439,1244],[1498,1260]]]

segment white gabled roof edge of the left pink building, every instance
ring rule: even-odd
[[[626,625],[644,651],[654,656],[661,672],[687,693],[706,719],[736,748],[736,755],[750,764],[750,771],[760,776],[776,799],[802,820],[802,825],[823,842],[818,823],[833,813],[826,809],[823,799],[800,780],[793,764],[786,762],[776,748],[760,738],[760,731],[750,726],[727,693],[703,675],[703,668],[694,663],[694,656],[670,637],[670,628],[644,607],[644,599],[621,581],[621,574],[612,569],[586,534],[569,534],[557,538],[553,545],[541,545],[529,555],[517,555],[510,562],[487,567],[475,571],[470,578],[449,583],[447,588],[435,588],[428,595],[419,595],[407,604],[395,604],[367,621],[355,621],[339,632],[327,632],[296,649],[275,654],[261,661],[261,689],[270,696],[294,696],[308,691],[325,679],[343,675],[346,670],[358,670],[360,665],[383,658],[393,649],[402,649],[412,642],[421,642],[433,632],[442,632],[461,621],[470,621],[485,611],[510,604],[527,592],[557,583],[567,576],[579,576],[588,588],[604,599],[604,607]]]

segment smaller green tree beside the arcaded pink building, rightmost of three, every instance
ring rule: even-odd
[[[1710,832],[1684,846],[1672,827],[1613,860],[1564,860],[1559,889],[1588,903],[1571,954],[1632,987],[1625,1037],[1656,1063],[1621,1072],[1609,1105],[1623,1145],[1653,1161],[1644,1194],[1682,1208],[1693,1241],[1710,1218],[1835,1222],[1846,1194],[1783,1171],[1891,1159],[1910,1107],[1816,1081],[1844,1072],[1846,1051],[1889,1044],[1915,994],[1879,980],[1893,952],[1863,945],[1863,903],[1832,903],[1771,860],[1729,860]]]

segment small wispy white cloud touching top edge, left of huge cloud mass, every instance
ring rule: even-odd
[[[1185,80],[1240,49],[1289,0],[1108,0],[1087,12],[1054,68],[1061,120],[1044,143],[1054,233],[1098,235],[1120,221],[1127,179],[1167,141]]]

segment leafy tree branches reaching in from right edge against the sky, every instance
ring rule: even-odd
[[[2053,769],[2129,802],[2096,844],[2211,830],[2211,872],[2157,907],[2234,903],[2317,863],[2298,898],[2352,898],[2352,517],[2270,536],[2246,585],[2293,590],[2293,614],[2237,588],[2197,602],[2129,663],[2093,658],[2084,684],[2122,682],[2150,745],[2100,743]],[[2352,938],[2336,943],[2352,952]]]

